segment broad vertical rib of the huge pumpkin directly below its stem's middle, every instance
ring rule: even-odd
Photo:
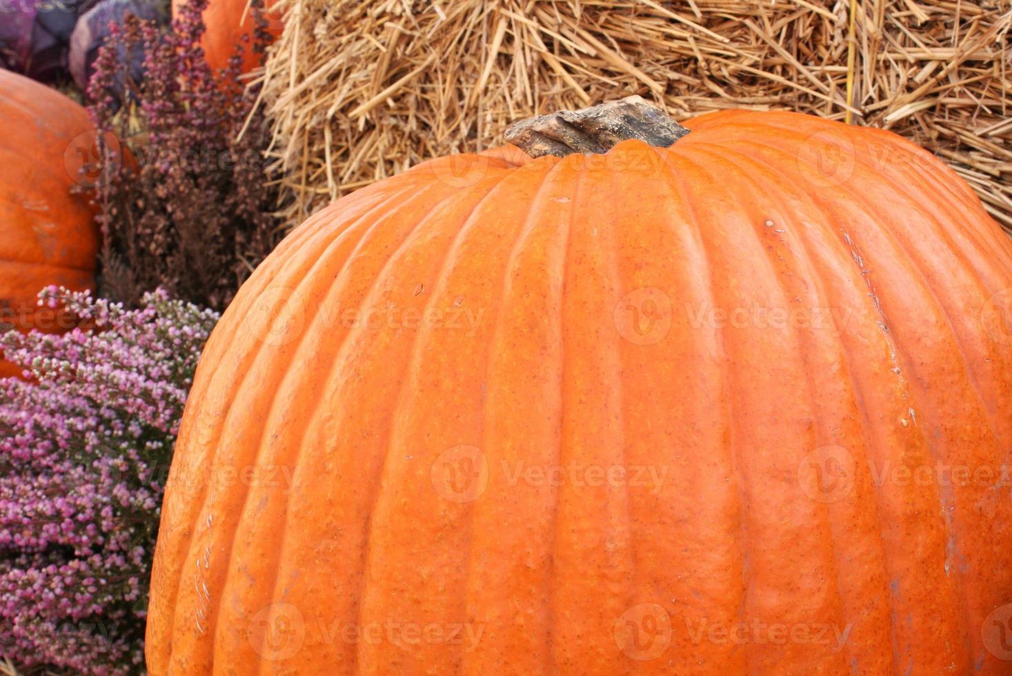
[[[607,317],[619,301],[608,260],[614,254],[605,241],[620,223],[623,200],[604,189],[606,169],[581,166],[578,158],[570,163],[580,172],[576,191],[583,196],[573,201],[567,251],[568,260],[580,265],[567,267],[563,294],[566,364],[560,464],[613,467],[622,462],[624,452],[619,399],[622,338],[604,321],[590,318]],[[581,192],[580,186],[587,184],[598,189]],[[603,383],[609,387],[599,387]],[[556,635],[562,664],[571,664],[579,654],[592,656],[606,673],[621,673],[624,666],[620,656],[608,650],[615,645],[608,629],[613,630],[615,619],[627,607],[628,579],[634,574],[623,495],[621,486],[578,486],[569,478],[560,482],[555,571],[562,587],[557,609],[563,611],[556,616],[568,618]],[[594,564],[598,575],[581,574],[584,566]]]

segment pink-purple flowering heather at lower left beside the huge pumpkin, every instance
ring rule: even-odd
[[[162,289],[135,310],[57,287],[39,304],[88,330],[0,335],[28,376],[0,379],[0,656],[139,673],[172,446],[218,314]]]

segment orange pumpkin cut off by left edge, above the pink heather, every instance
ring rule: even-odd
[[[94,159],[88,112],[55,89],[0,70],[0,329],[57,331],[66,318],[38,309],[50,284],[94,285],[98,231],[76,187]],[[0,375],[18,372],[0,361]]]

